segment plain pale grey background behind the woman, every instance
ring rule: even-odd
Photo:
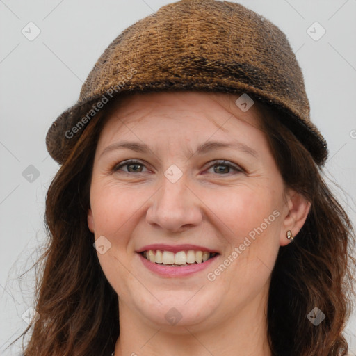
[[[127,26],[172,2],[0,0],[1,355],[16,355],[17,348],[4,349],[26,327],[22,314],[33,305],[34,273],[19,276],[46,238],[44,198],[58,170],[46,151],[47,129],[76,102],[108,44]],[[312,118],[329,145],[326,179],[336,182],[330,181],[332,190],[355,222],[356,0],[238,2],[289,38],[305,74]],[[24,29],[30,35],[29,22],[41,31],[32,41],[22,34]],[[307,33],[314,22],[326,31],[319,40]],[[318,25],[312,31],[314,38],[322,33]],[[355,313],[347,331],[356,350]]]

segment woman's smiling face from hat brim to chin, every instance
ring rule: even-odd
[[[261,114],[237,98],[131,95],[109,115],[88,226],[120,318],[216,328],[266,306],[286,230],[296,235],[304,220],[291,214]]]

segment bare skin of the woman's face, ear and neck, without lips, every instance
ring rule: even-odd
[[[286,231],[298,234],[310,206],[285,188],[259,129],[257,105],[243,112],[234,104],[237,98],[203,92],[135,94],[117,105],[104,124],[88,227],[95,239],[105,236],[111,243],[98,257],[119,296],[115,356],[270,355],[270,273],[279,248],[291,242]],[[150,151],[103,154],[122,140],[145,143]],[[256,154],[234,148],[197,154],[197,146],[207,141],[238,141]],[[114,170],[129,159],[140,164]],[[182,172],[175,183],[164,175],[172,164]],[[220,275],[207,278],[249,233],[266,225]],[[151,243],[191,243],[220,255],[193,275],[161,277],[136,253]],[[172,307],[181,315],[175,325],[165,319]]]

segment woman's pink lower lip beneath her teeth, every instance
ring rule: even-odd
[[[202,262],[202,264],[187,264],[186,266],[181,267],[156,264],[154,262],[148,261],[148,259],[143,257],[143,255],[140,253],[138,253],[138,256],[140,257],[143,266],[156,273],[157,275],[161,275],[163,277],[186,277],[187,275],[193,275],[193,273],[204,270],[210,266],[219,255],[216,254],[214,257],[211,257],[207,261]]]

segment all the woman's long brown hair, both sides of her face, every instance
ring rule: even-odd
[[[110,106],[110,104],[108,104]],[[106,280],[87,225],[92,164],[105,122],[99,112],[60,167],[47,192],[49,236],[38,264],[33,325],[25,356],[109,356],[120,328],[118,296]],[[293,243],[280,248],[268,298],[268,336],[274,356],[344,356],[343,329],[353,296],[355,234],[307,149],[282,120],[264,108],[266,133],[286,186],[312,202]],[[106,115],[107,117],[107,115]],[[325,320],[314,326],[307,314],[318,307]],[[28,327],[22,336],[30,330]]]

